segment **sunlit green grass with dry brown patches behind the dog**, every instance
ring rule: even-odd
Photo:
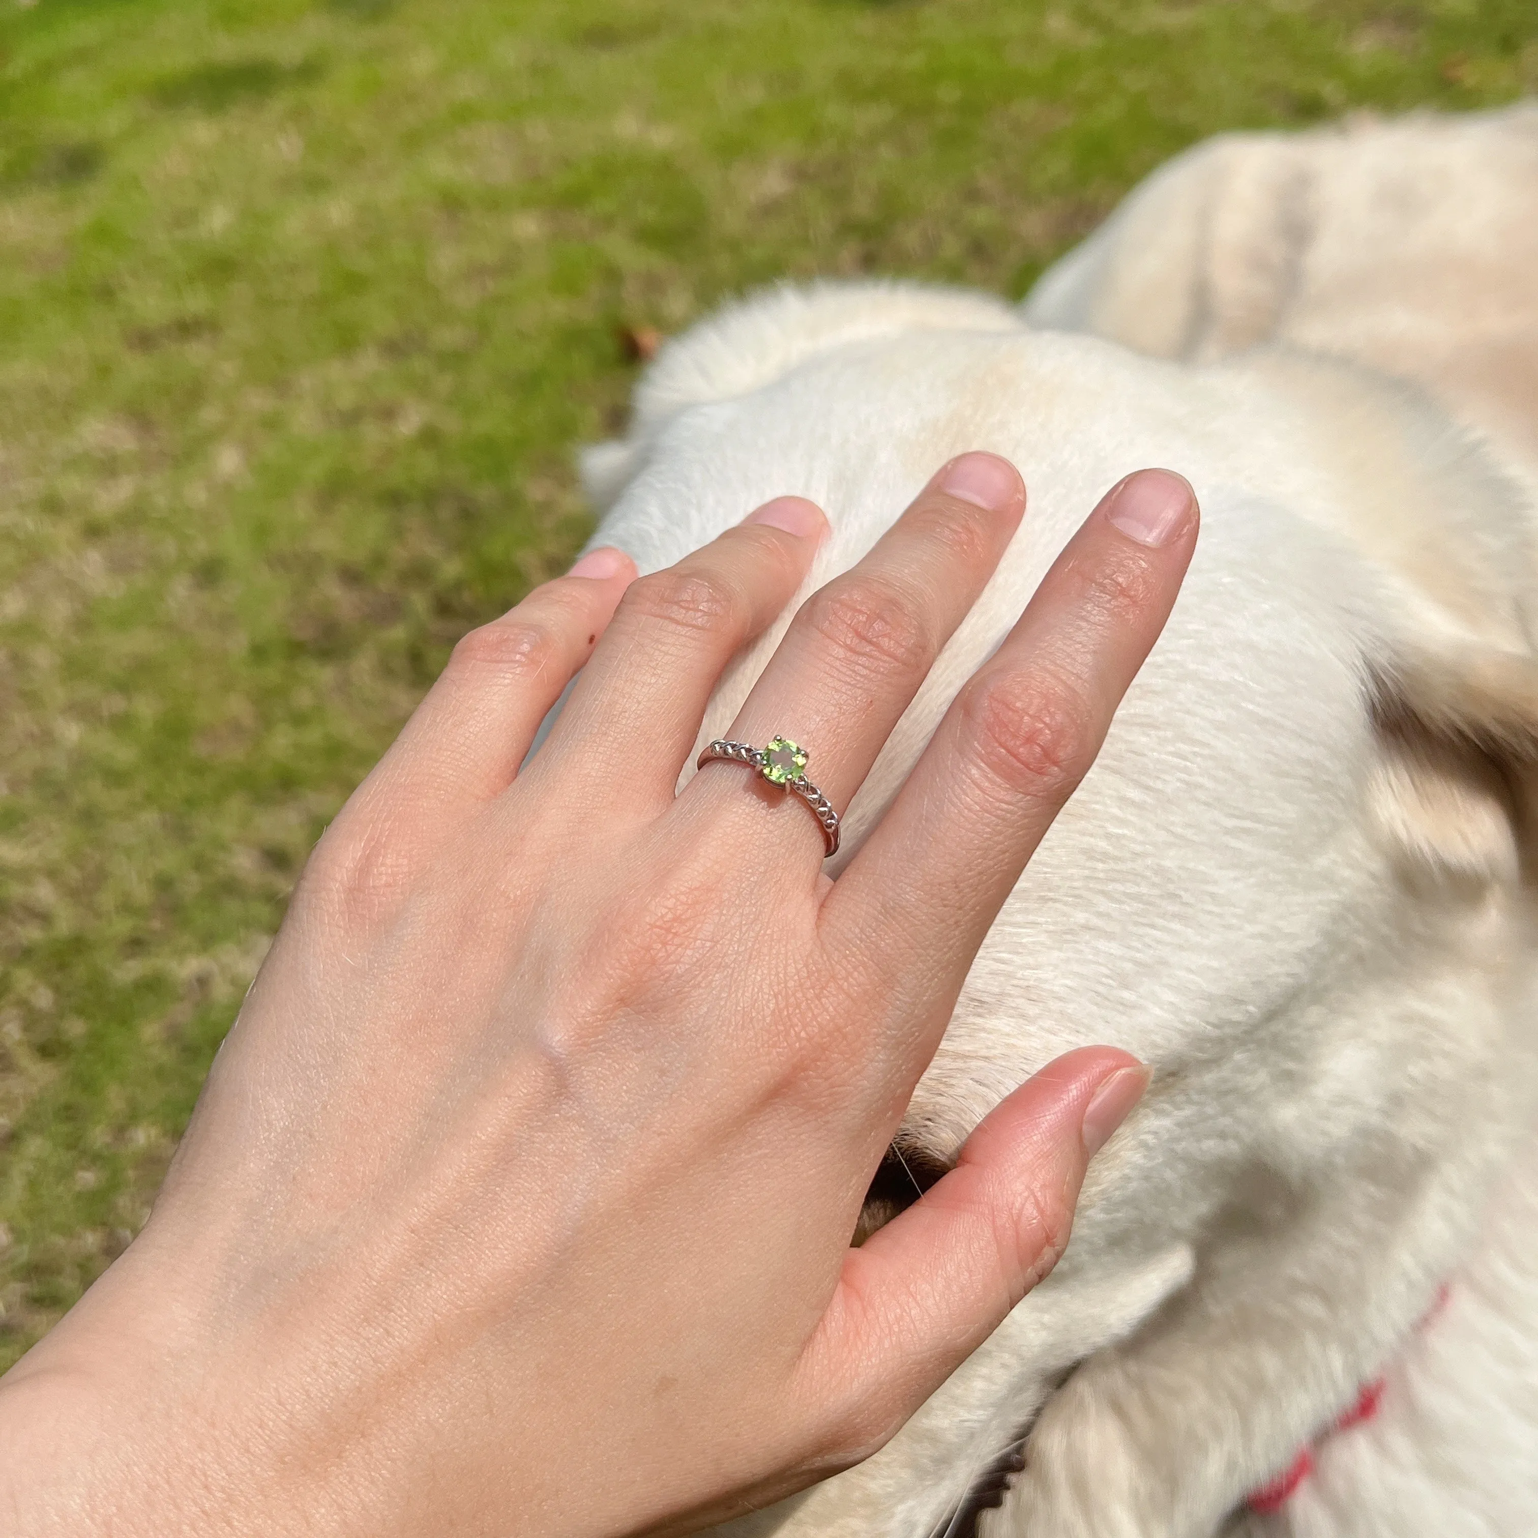
[[[143,1223],[326,820],[583,537],[620,328],[1018,295],[1215,129],[1538,88],[1530,0],[0,5],[0,1367]]]

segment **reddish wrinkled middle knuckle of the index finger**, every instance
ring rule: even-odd
[[[1063,795],[1094,758],[1089,701],[1041,672],[974,683],[963,694],[961,720],[967,760],[1017,795]]]

